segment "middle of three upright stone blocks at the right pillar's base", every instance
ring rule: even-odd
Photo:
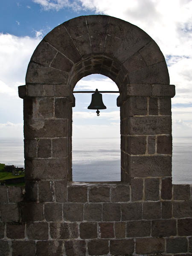
[[[145,179],[145,201],[158,201],[160,199],[159,179]]]

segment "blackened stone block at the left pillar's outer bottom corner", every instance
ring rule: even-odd
[[[38,199],[38,182],[26,180],[25,183],[25,199],[26,201],[35,202]]]

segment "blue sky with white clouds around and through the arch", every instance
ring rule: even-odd
[[[173,137],[192,136],[192,0],[6,0],[0,3],[0,138],[23,138],[23,100],[18,86],[36,46],[55,26],[81,15],[103,14],[139,26],[156,41],[168,65]],[[111,79],[91,75],[75,90],[118,90]],[[76,94],[73,134],[119,136],[118,95],[103,94],[107,109],[87,110],[91,94]]]

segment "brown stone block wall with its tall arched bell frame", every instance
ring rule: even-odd
[[[73,182],[73,88],[92,73],[119,87],[120,182]],[[19,87],[26,186],[0,187],[0,256],[192,255],[192,186],[172,184],[174,95],[137,26],[91,15],[49,32]]]

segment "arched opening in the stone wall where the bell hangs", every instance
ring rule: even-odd
[[[119,93],[97,91],[119,91],[108,77],[99,74],[79,80],[75,91],[94,91],[103,106],[99,116],[92,93],[74,93],[72,134],[73,181],[120,181],[120,110],[116,105]],[[88,109],[87,109],[88,108]],[[92,109],[94,108],[94,109]]]

